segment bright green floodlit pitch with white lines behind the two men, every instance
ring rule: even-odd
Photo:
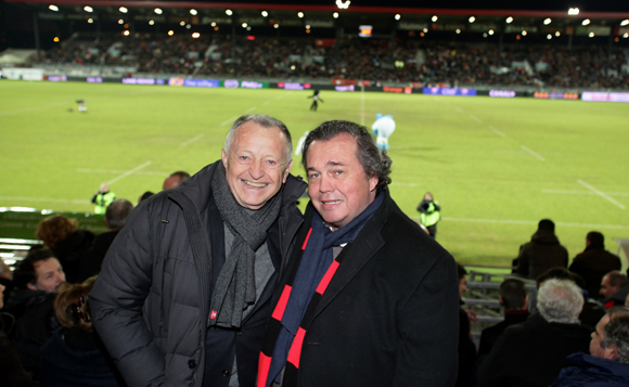
[[[294,144],[322,121],[371,127],[382,113],[397,122],[393,197],[416,220],[431,191],[442,207],[437,241],[460,262],[510,265],[542,218],[570,257],[589,231],[614,253],[614,238],[629,237],[627,104],[323,91],[310,112],[310,94],[2,80],[0,207],[91,211],[101,182],[136,203],[170,172],[218,159],[246,113],[283,120]],[[293,173],[304,175],[298,157]]]

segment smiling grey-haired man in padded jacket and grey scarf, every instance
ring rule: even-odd
[[[303,222],[286,126],[245,115],[222,158],[143,201],[90,294],[128,386],[254,386],[270,297]]]

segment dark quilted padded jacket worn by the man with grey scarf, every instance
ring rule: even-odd
[[[90,294],[97,332],[129,386],[202,386],[205,377],[224,387],[234,356],[240,386],[255,384],[270,298],[303,222],[295,202],[306,183],[288,176],[281,191],[282,208],[268,234],[279,242],[281,261],[273,262],[254,309],[239,330],[208,330],[220,242],[211,241],[223,228],[210,184],[218,163],[133,209]]]

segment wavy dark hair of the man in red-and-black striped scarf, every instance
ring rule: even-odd
[[[365,127],[351,121],[336,120],[321,124],[317,129],[308,133],[301,151],[304,168],[308,170],[308,147],[314,141],[332,140],[338,134],[347,133],[356,140],[356,158],[362,166],[368,177],[377,178],[377,186],[384,188],[390,184],[391,159],[386,151],[380,151],[373,136]]]

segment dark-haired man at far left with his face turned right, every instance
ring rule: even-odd
[[[39,378],[39,350],[59,327],[53,302],[65,274],[52,250],[31,249],[13,273],[15,289],[7,309],[15,317],[14,344],[24,369]]]

